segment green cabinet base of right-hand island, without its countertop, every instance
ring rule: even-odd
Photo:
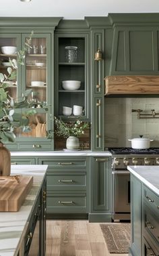
[[[131,255],[159,255],[158,205],[158,195],[131,174]]]

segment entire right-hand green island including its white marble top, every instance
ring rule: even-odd
[[[127,169],[131,172],[130,255],[159,255],[159,167]]]

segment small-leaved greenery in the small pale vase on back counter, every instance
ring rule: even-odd
[[[90,128],[90,124],[87,122],[82,122],[79,119],[75,122],[64,123],[61,119],[57,119],[54,117],[55,122],[55,133],[58,136],[63,136],[65,138],[69,136],[76,136],[79,137],[80,135],[84,134],[86,129]]]

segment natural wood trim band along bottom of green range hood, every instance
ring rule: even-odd
[[[159,94],[158,76],[108,76],[104,95]]]

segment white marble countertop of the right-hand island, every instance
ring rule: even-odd
[[[127,169],[159,196],[159,166],[128,166]]]

